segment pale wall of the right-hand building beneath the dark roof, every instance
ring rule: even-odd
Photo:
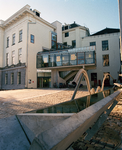
[[[91,81],[91,73],[97,73],[97,80],[103,79],[104,72],[110,72],[113,78],[118,79],[120,71],[120,33],[105,34],[98,36],[89,36],[82,39],[82,46],[89,46],[90,42],[96,42],[96,69],[89,70],[88,75]],[[102,41],[108,40],[109,50],[102,51]],[[103,67],[102,55],[109,54],[109,66]],[[111,79],[111,83],[112,83]]]

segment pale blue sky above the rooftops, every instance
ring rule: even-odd
[[[0,0],[0,20],[5,21],[26,4],[50,23],[75,21],[88,27],[91,34],[106,27],[120,28],[118,0]]]

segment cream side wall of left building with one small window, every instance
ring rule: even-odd
[[[33,18],[32,21],[35,22]],[[28,67],[26,73],[26,86],[28,88],[37,88],[36,56],[38,52],[42,51],[43,47],[51,48],[51,31],[54,31],[54,29],[38,20],[36,20],[36,24],[29,24]],[[30,42],[31,34],[35,37],[34,43]],[[29,79],[32,81],[31,84],[28,84]]]

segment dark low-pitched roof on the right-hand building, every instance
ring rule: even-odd
[[[120,32],[120,29],[105,28],[105,29],[103,29],[101,31],[98,31],[98,32],[92,34],[91,36],[102,35],[102,34],[110,34],[110,33],[117,33],[117,32]]]

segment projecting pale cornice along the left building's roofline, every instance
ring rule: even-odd
[[[42,19],[41,17],[36,16],[36,14],[30,10],[30,6],[26,5],[23,8],[21,8],[19,11],[17,11],[14,15],[12,15],[10,18],[8,18],[4,23],[1,25],[2,28],[6,28],[10,24],[14,23],[18,19],[20,19],[22,16],[25,16],[27,13],[31,14],[34,18],[37,20],[43,22],[44,24],[50,26],[53,29],[56,29],[55,26],[47,22],[46,20]]]

